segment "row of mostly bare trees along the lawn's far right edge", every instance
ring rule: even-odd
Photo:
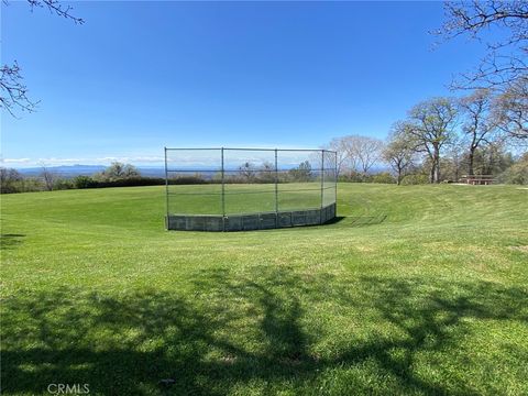
[[[501,183],[526,184],[528,135],[505,125],[509,119],[505,121],[503,101],[503,95],[491,89],[432,98],[395,122],[385,141],[348,135],[333,139],[327,147],[338,152],[340,180],[436,184],[491,175]],[[375,166],[388,167],[391,173],[375,175]]]

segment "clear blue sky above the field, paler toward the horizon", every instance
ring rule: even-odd
[[[75,2],[84,25],[2,3],[2,63],[35,113],[2,113],[4,165],[150,164],[167,146],[385,138],[483,48],[432,50],[440,2]],[[106,158],[106,160],[105,160]]]

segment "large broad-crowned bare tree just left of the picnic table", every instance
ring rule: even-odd
[[[453,99],[433,98],[416,105],[409,111],[407,133],[415,142],[415,150],[429,157],[430,183],[440,182],[440,154],[455,134],[458,110]]]

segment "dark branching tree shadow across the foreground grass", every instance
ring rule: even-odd
[[[394,393],[453,394],[415,373],[415,354],[457,342],[469,331],[464,318],[528,319],[525,292],[490,283],[365,277],[351,286],[292,268],[248,271],[200,271],[186,295],[65,289],[11,296],[2,304],[2,392],[45,394],[50,383],[87,383],[109,395],[220,395],[237,386],[321,394],[332,391],[321,388],[322,375],[369,361]],[[310,309],[321,302],[351,316],[369,310],[400,336],[354,339],[351,327],[346,345],[317,353],[312,346],[328,329],[310,323]],[[162,378],[175,384],[162,388]],[[463,380],[450,381],[461,395],[475,393]],[[346,382],[353,383],[349,392],[376,386],[369,375]]]

